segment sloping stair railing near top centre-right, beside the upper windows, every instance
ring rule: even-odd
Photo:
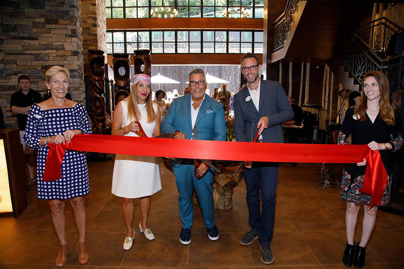
[[[284,48],[284,42],[290,32],[290,24],[295,20],[295,14],[298,12],[297,5],[300,0],[288,0],[284,13],[274,22],[274,50],[276,52]]]

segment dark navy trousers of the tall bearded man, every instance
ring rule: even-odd
[[[248,224],[251,231],[258,233],[261,245],[270,245],[274,235],[278,172],[279,163],[253,162],[251,169],[243,169],[247,187]]]

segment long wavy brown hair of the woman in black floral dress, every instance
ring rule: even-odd
[[[395,124],[394,122],[394,109],[390,104],[389,100],[389,92],[390,92],[390,84],[386,75],[381,73],[380,71],[369,71],[363,77],[363,81],[367,77],[374,77],[379,85],[380,90],[380,117],[383,121],[388,123],[389,125]],[[366,109],[368,98],[365,95],[364,90],[362,89],[362,95],[360,96],[359,104],[355,107],[355,114],[359,115],[360,121],[366,121]]]

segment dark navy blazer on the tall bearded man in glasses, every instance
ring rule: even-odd
[[[236,141],[251,142],[257,133],[259,119],[267,116],[268,128],[262,132],[262,138],[267,143],[283,143],[282,123],[294,117],[292,107],[282,85],[278,81],[261,79],[259,93],[259,111],[250,96],[247,85],[234,95],[234,133]],[[252,132],[252,125],[254,131]]]

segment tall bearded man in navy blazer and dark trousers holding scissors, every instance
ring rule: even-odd
[[[293,110],[282,85],[278,81],[260,79],[260,69],[255,54],[244,54],[241,72],[247,85],[234,95],[236,141],[251,142],[258,132],[258,142],[283,143],[281,124],[293,119]],[[249,245],[258,238],[261,244],[261,261],[266,264],[274,261],[271,240],[274,234],[278,171],[279,163],[244,162],[248,224],[251,230],[244,234],[240,244]]]

